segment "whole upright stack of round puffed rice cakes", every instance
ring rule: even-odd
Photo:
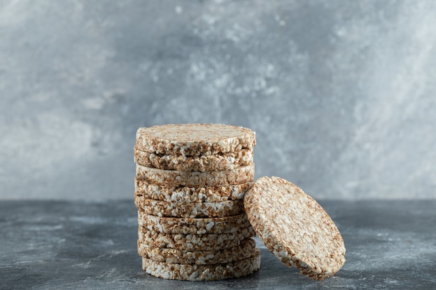
[[[244,210],[254,131],[223,124],[139,128],[134,201],[147,273],[207,281],[249,275],[260,250]]]

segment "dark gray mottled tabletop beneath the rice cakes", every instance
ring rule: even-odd
[[[262,252],[260,271],[215,282],[141,271],[132,200],[0,202],[0,289],[436,289],[436,200],[320,202],[345,265],[313,281]]]

